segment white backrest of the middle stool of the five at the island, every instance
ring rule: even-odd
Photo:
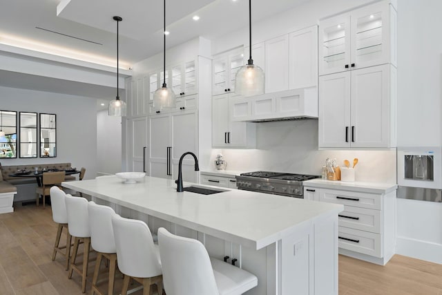
[[[115,211],[111,207],[88,203],[90,243],[95,251],[117,253],[113,237],[112,216]]]

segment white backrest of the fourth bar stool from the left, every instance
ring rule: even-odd
[[[152,234],[142,220],[112,216],[119,270],[137,278],[151,278],[162,274],[160,254],[153,244]]]

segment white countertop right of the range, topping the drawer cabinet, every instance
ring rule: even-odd
[[[342,191],[360,191],[363,193],[390,193],[397,189],[395,183],[383,182],[343,182],[323,179],[313,179],[302,182],[304,187],[317,187],[320,189],[340,189]]]

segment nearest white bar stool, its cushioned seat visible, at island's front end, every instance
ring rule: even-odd
[[[239,295],[258,285],[255,275],[210,258],[199,240],[158,229],[158,243],[167,295]]]

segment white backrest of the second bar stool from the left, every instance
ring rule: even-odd
[[[66,195],[65,200],[69,234],[78,238],[90,237],[88,200],[70,194]]]

